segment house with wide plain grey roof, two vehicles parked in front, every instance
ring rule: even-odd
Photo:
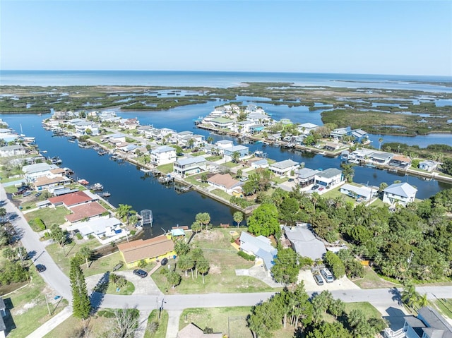
[[[297,227],[283,227],[284,236],[290,241],[292,249],[302,257],[321,260],[326,253],[325,245],[308,229],[307,224]]]

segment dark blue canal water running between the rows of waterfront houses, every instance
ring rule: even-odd
[[[244,97],[246,102],[253,102],[252,97]],[[194,119],[198,116],[206,116],[216,106],[225,104],[224,101],[213,101],[205,104],[195,104],[187,107],[177,107],[168,111],[117,111],[124,118],[137,117],[141,125],[152,124],[157,128],[172,128],[175,131],[191,130],[194,133],[209,135],[215,141],[222,139],[236,139],[224,135],[216,135],[201,129],[194,128]],[[273,119],[279,120],[289,118],[295,123],[316,123],[321,125],[320,112],[309,111],[307,107],[273,106],[271,104],[259,104],[272,114]],[[81,149],[76,143],[69,143],[64,137],[52,137],[50,131],[42,128],[42,120],[50,117],[50,114],[38,116],[35,114],[0,114],[0,118],[6,121],[10,128],[20,131],[27,136],[36,138],[40,150],[47,150],[47,156],[59,156],[63,160],[62,167],[69,167],[74,171],[74,177],[86,179],[90,183],[100,182],[105,191],[112,193],[108,198],[109,203],[114,206],[128,204],[138,212],[143,209],[153,211],[154,225],[152,233],[146,236],[157,236],[163,233],[163,229],[179,225],[191,225],[198,212],[208,212],[213,224],[233,224],[232,215],[234,209],[222,205],[200,193],[191,191],[178,194],[172,188],[165,188],[155,178],[144,174],[136,166],[113,162],[107,156],[99,156],[92,149]],[[374,144],[378,144],[379,135],[371,135]],[[408,140],[412,141],[407,142]],[[433,134],[416,136],[414,138],[383,136],[384,142],[402,142],[427,146],[432,143],[452,143],[450,134]],[[250,152],[263,150],[267,156],[277,161],[293,159],[303,162],[311,169],[327,169],[330,167],[340,168],[340,159],[315,155],[311,152],[288,150],[280,147],[265,146],[262,143],[247,145]],[[368,183],[379,186],[380,183],[388,184],[393,181],[408,182],[418,189],[417,198],[429,198],[438,191],[452,188],[451,185],[438,181],[425,181],[415,176],[400,176],[388,171],[381,171],[368,167],[355,167],[354,181],[357,183]]]

